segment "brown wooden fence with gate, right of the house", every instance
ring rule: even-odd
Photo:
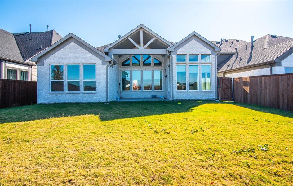
[[[293,110],[293,73],[228,79],[218,79],[219,100],[233,98],[239,103]],[[230,94],[227,93],[228,87],[231,88]]]

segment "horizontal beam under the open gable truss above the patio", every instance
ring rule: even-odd
[[[109,55],[124,54],[167,54],[166,49],[110,49]]]

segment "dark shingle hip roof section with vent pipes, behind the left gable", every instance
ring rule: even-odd
[[[14,33],[14,38],[24,60],[39,53],[60,40],[62,37],[55,31]]]

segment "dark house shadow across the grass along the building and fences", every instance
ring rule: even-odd
[[[293,112],[279,109],[266,108],[257,105],[248,105],[233,102],[215,101],[137,101],[137,102],[110,102],[104,103],[60,103],[37,104],[22,107],[0,109],[0,123],[33,121],[51,117],[79,116],[93,114],[100,117],[101,121],[133,118],[167,113],[190,112],[191,108],[203,104],[233,104],[241,107],[278,114],[285,117],[293,117]],[[223,107],[225,109],[225,107]]]

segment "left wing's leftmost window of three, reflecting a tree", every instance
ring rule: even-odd
[[[63,64],[51,64],[51,91],[63,92]]]

